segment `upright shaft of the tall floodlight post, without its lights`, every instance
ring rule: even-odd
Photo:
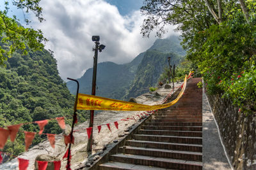
[[[93,57],[93,76],[92,76],[92,95],[95,96],[96,93],[96,76],[97,76],[97,62],[98,62],[98,50],[99,50],[99,41],[95,42],[95,53]],[[90,122],[89,127],[93,127],[93,118],[94,118],[94,110],[90,111]],[[92,129],[93,134],[93,129]],[[87,152],[92,152],[92,134],[90,139],[88,139],[87,143]]]

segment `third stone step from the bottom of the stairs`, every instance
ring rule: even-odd
[[[170,159],[202,161],[202,153],[188,152],[180,150],[163,150],[159,148],[141,148],[134,146],[122,146],[118,150],[120,153],[131,155],[143,155],[148,157],[162,157]]]

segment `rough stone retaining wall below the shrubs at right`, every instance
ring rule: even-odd
[[[256,169],[256,113],[239,113],[221,95],[207,97],[234,169]]]

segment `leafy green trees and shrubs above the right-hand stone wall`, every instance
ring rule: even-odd
[[[203,75],[207,92],[223,94],[246,113],[256,111],[255,0],[145,0],[141,34],[177,25],[186,58]]]

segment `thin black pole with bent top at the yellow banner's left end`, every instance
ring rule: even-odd
[[[69,143],[69,146],[68,146],[68,161],[67,161],[67,170],[70,169],[70,155],[71,155],[71,143],[73,141],[73,131],[74,131],[74,125],[75,125],[75,121],[76,121],[76,117],[77,117],[77,109],[76,109],[76,106],[77,106],[77,97],[78,97],[78,92],[79,92],[79,82],[77,80],[74,80],[72,78],[67,78],[68,80],[72,80],[72,81],[76,81],[77,83],[77,90],[76,90],[76,101],[75,101],[75,104],[74,104],[74,114],[73,114],[73,122],[72,122],[72,128],[71,128],[71,132],[70,132],[70,143]]]

